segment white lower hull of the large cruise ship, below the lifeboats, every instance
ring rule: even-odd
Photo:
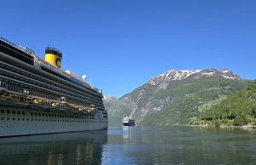
[[[3,108],[1,108],[3,110]],[[10,114],[6,113],[10,111]],[[12,114],[12,111],[15,114]],[[18,115],[17,111],[21,111]],[[22,115],[22,111],[25,115]],[[5,108],[5,113],[0,117],[0,137],[32,135],[32,134],[55,134],[75,131],[88,131],[96,129],[107,129],[108,121],[102,119],[68,118],[60,117],[63,113],[45,112],[32,109]],[[56,117],[31,116],[31,112],[47,113]],[[57,117],[59,115],[59,117]],[[73,115],[69,115],[74,117]]]

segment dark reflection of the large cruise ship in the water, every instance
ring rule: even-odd
[[[0,139],[0,164],[101,164],[106,130]]]

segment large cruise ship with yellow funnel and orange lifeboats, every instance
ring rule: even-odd
[[[0,137],[108,128],[102,90],[61,69],[62,53],[0,37]]]

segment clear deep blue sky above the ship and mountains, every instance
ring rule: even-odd
[[[3,0],[0,36],[120,97],[171,69],[256,74],[254,0]]]

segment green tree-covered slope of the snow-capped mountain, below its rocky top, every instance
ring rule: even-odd
[[[143,125],[189,124],[212,105],[245,88],[246,81],[208,77],[188,79],[155,93],[157,98],[174,98],[165,109],[143,119]]]

